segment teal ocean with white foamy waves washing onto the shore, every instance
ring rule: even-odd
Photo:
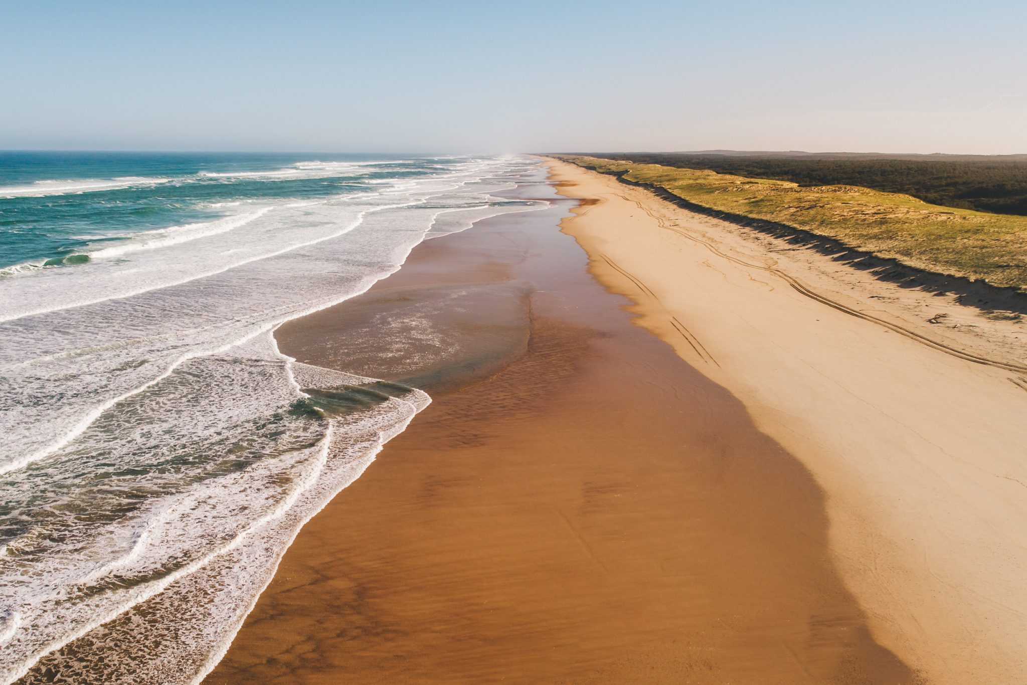
[[[282,322],[547,206],[526,157],[0,153],[0,682],[200,680],[430,401]],[[385,335],[385,333],[383,333]]]

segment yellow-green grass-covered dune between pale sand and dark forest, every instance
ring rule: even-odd
[[[727,218],[794,228],[916,270],[1027,294],[1027,217],[939,206],[859,186],[805,187],[709,169],[553,156]]]

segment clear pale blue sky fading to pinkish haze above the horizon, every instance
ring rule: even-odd
[[[1027,153],[1027,3],[0,0],[0,149]]]

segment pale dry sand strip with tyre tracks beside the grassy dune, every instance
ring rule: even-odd
[[[907,334],[1023,367],[1024,325],[549,165],[597,277],[824,489],[873,636],[930,682],[1027,682],[1027,375]]]

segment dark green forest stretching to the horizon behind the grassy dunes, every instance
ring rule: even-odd
[[[800,186],[863,186],[888,193],[905,193],[933,204],[1027,215],[1027,157],[1024,155],[674,152],[594,156],[792,181]]]

